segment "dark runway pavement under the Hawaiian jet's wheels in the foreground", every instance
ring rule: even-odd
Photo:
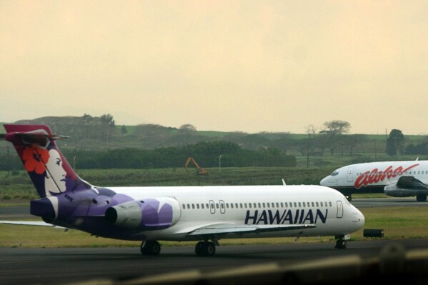
[[[164,247],[159,256],[142,256],[139,248],[2,248],[0,281],[2,285],[80,284],[94,280],[98,284],[101,281],[102,284],[121,284],[136,278],[189,270],[206,274],[240,266],[292,266],[305,261],[331,262],[345,257],[369,260],[379,256],[385,246],[397,244],[407,251],[428,250],[426,239],[351,241],[348,248],[342,250],[334,249],[333,242],[218,246],[216,256],[211,257],[196,256],[193,246]]]

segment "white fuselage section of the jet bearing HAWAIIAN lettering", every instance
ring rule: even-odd
[[[192,240],[193,231],[216,224],[232,227],[277,224],[316,226],[312,229],[244,235],[231,230],[230,234],[222,233],[222,238],[343,235],[357,231],[364,225],[364,216],[358,209],[349,204],[339,191],[324,186],[156,186],[109,189],[135,200],[169,197],[178,201],[178,222],[167,229],[144,231],[147,239]]]

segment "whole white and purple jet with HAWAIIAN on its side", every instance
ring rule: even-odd
[[[95,236],[141,242],[141,254],[159,254],[158,241],[199,241],[213,256],[219,239],[335,236],[364,226],[363,214],[334,189],[314,186],[99,187],[81,179],[56,146],[49,126],[5,124],[40,196],[30,212],[43,222],[1,221],[78,229]]]

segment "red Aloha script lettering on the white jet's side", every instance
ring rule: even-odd
[[[399,175],[402,175],[404,172],[409,171],[410,169],[418,166],[419,164],[413,164],[412,166],[403,169],[403,166],[398,166],[396,169],[392,169],[392,165],[388,166],[384,171],[378,171],[378,169],[373,169],[372,171],[367,171],[357,177],[355,180],[354,186],[356,189],[361,188],[362,186],[367,186],[369,184],[376,184],[382,182],[385,179],[392,179]]]

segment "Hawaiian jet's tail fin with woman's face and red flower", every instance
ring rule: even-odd
[[[55,136],[46,125],[4,124],[4,129],[4,138],[14,144],[40,197],[91,188],[56,146],[55,140],[66,136]]]

